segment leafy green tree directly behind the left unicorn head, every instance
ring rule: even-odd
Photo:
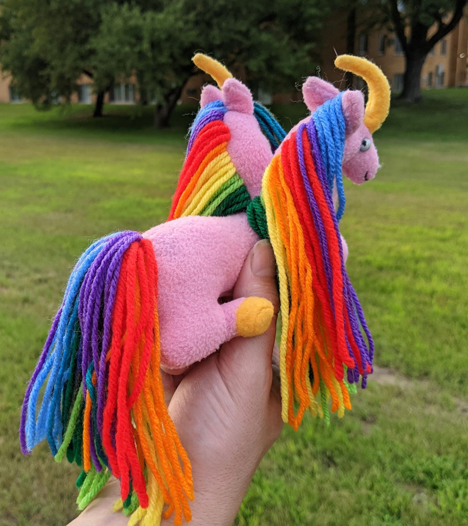
[[[135,74],[156,101],[155,124],[164,127],[187,80],[196,50],[214,53],[228,67],[242,64],[250,85],[280,89],[313,68],[313,50],[326,0],[170,0],[157,9],[110,4],[94,39],[96,82],[113,72]]]

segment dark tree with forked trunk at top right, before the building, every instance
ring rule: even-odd
[[[460,22],[466,3],[467,0],[388,0],[383,4],[405,56],[402,99],[408,102],[421,99],[421,70],[426,56]],[[436,31],[429,37],[433,24]]]

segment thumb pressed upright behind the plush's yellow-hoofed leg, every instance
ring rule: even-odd
[[[249,296],[266,298],[271,301],[274,315],[270,327],[259,336],[237,337],[225,343],[221,353],[229,355],[223,358],[229,359],[231,365],[235,365],[237,370],[249,368],[252,371],[252,367],[258,370],[259,365],[271,370],[279,297],[273,249],[266,239],[258,241],[250,251],[233,290],[233,299]]]

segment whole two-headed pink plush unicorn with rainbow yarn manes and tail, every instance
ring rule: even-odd
[[[361,92],[310,77],[302,89],[311,115],[286,135],[226,68],[204,55],[194,61],[220,89],[202,91],[169,220],[101,238],[78,259],[19,430],[24,453],[47,439],[57,461],[83,467],[80,509],[111,474],[120,479],[116,509],[131,524],[158,524],[165,505],[176,525],[190,520],[190,462],[160,366],[190,366],[270,326],[266,299],[218,301],[260,238],[271,241],[278,268],[283,420],[297,429],[306,410],[328,420],[329,398],[342,416],[349,391],[372,372],[338,221],[342,173],[360,184],[377,172],[372,133],[388,114],[388,82],[363,58],[337,57],[367,81],[367,106]]]

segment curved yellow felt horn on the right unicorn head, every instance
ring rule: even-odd
[[[364,124],[371,133],[378,130],[390,109],[390,85],[379,66],[354,55],[339,55],[335,66],[362,77],[367,82],[369,97],[365,106]]]

